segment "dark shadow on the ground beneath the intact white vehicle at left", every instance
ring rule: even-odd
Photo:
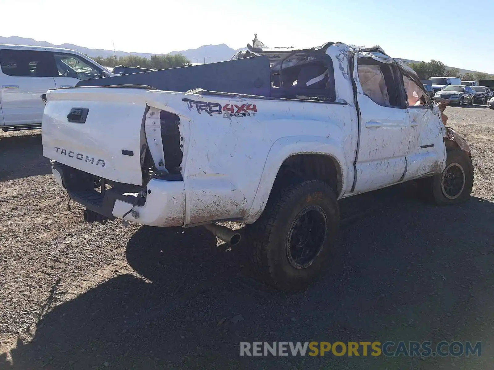
[[[0,182],[51,173],[41,135],[0,136]]]

